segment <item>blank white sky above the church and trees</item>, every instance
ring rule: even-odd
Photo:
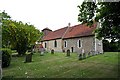
[[[0,11],[5,10],[13,20],[30,23],[37,29],[57,30],[80,24],[79,8],[83,0],[0,0]]]

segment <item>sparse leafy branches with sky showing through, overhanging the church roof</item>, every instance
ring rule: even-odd
[[[96,7],[94,2],[83,2],[81,6],[78,6],[80,9],[78,21],[82,22],[82,24],[88,23],[87,25],[92,25]]]

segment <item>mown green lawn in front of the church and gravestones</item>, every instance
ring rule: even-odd
[[[77,54],[47,53],[32,56],[31,63],[25,57],[12,57],[11,65],[3,69],[3,78],[117,78],[118,53],[106,52],[78,60]]]

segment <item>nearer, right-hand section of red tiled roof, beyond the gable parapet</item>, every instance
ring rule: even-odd
[[[85,25],[75,25],[67,31],[64,38],[74,38],[74,37],[81,37],[81,36],[90,36],[94,35],[93,31],[96,28],[96,24],[94,24],[91,28]]]

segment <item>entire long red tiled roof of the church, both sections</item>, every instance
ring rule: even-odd
[[[90,36],[94,35],[93,31],[96,28],[96,24],[92,27],[88,27],[82,24],[75,25],[72,27],[64,27],[55,31],[50,32],[48,35],[43,37],[43,41],[45,40],[52,40],[58,38],[74,38],[74,37],[81,37],[81,36]]]

